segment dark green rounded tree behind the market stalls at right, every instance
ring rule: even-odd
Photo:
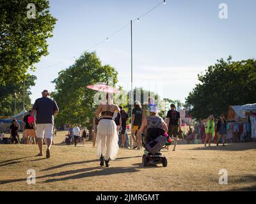
[[[186,106],[198,118],[211,114],[218,117],[227,113],[228,105],[244,105],[256,102],[256,61],[227,61],[220,59],[209,66],[206,73],[198,75],[200,84],[189,93]]]

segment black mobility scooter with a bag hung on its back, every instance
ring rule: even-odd
[[[142,145],[145,147],[147,154],[143,154],[143,166],[149,164],[163,164],[167,166],[167,159],[162,156],[160,150],[166,147],[166,140],[164,137],[164,129],[162,128],[148,128],[145,135],[142,133]]]

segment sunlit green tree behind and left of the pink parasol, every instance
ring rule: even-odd
[[[52,97],[58,103],[60,113],[56,124],[81,124],[92,128],[92,119],[97,105],[93,103],[96,91],[87,89],[87,85],[108,82],[113,78],[117,83],[117,71],[109,65],[102,65],[95,52],[85,52],[75,64],[62,70],[53,83],[56,92]]]

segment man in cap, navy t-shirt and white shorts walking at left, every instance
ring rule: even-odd
[[[47,150],[46,157],[51,157],[50,149],[52,145],[52,135],[54,126],[54,115],[59,112],[56,101],[49,98],[47,90],[42,92],[42,98],[36,99],[31,115],[36,113],[36,138],[38,142],[39,154],[43,156],[43,139],[46,138]]]

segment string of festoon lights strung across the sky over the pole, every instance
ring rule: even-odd
[[[143,18],[145,15],[147,15],[148,13],[150,13],[151,11],[155,10],[158,6],[160,6],[161,4],[166,4],[166,0],[162,0],[159,4],[157,4],[156,6],[154,6],[153,8],[151,8],[150,10],[148,10],[146,13],[143,13],[143,15],[141,15],[140,17],[134,18],[132,20],[132,22],[134,21],[139,21],[141,18]],[[45,67],[45,68],[39,68],[38,70],[42,70],[42,69],[51,69],[52,67],[56,67],[56,66],[60,66],[61,64],[70,61],[72,59],[76,59],[77,57],[80,57],[82,54],[84,54],[84,52],[88,52],[90,50],[92,50],[93,48],[97,47],[98,45],[104,43],[105,41],[108,41],[111,37],[115,36],[115,34],[119,33],[120,31],[122,31],[125,27],[127,27],[128,25],[130,25],[130,22],[128,22],[127,24],[123,25],[122,27],[120,27],[120,29],[116,30],[114,33],[110,34],[109,36],[107,36],[106,38],[104,38],[103,40],[99,41],[98,43],[95,43],[95,45],[93,45],[92,47],[88,48],[87,50],[84,50],[81,54],[70,57],[69,59],[67,59],[66,61],[63,62],[58,62],[57,64],[53,64],[51,66]]]

